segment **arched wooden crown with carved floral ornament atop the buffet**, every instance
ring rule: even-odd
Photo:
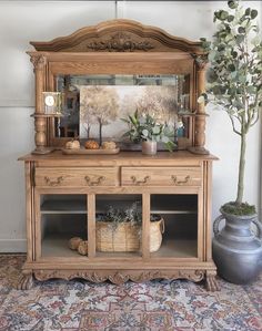
[[[37,51],[48,52],[170,52],[202,54],[200,42],[173,37],[162,29],[132,20],[111,20],[82,28],[48,42],[30,42]]]

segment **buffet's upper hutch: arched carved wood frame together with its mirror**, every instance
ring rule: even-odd
[[[130,20],[83,28],[50,42],[31,42],[36,69],[36,153],[72,137],[103,133],[122,149],[122,117],[135,111],[174,128],[179,148],[205,153],[204,54],[199,42]],[[61,92],[61,114],[46,114],[42,92]],[[94,104],[95,107],[91,106]],[[107,107],[104,106],[107,104]],[[111,104],[111,107],[109,107]]]

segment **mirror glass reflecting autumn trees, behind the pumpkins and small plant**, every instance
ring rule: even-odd
[[[135,111],[173,126],[175,136],[188,135],[190,75],[59,75],[62,116],[56,118],[56,137],[113,139],[124,143],[128,130],[121,118]],[[177,138],[174,137],[174,139]]]

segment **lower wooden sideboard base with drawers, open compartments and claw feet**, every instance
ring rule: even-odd
[[[212,155],[189,152],[139,152],[118,155],[27,155],[28,257],[20,288],[51,278],[110,280],[205,279],[216,290],[211,256]],[[145,180],[147,178],[147,180]],[[141,249],[95,249],[95,214],[110,205],[142,201]],[[164,218],[160,249],[150,252],[150,214]],[[69,249],[68,240],[88,240],[88,256]]]

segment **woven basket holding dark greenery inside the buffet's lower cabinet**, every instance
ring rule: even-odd
[[[141,247],[142,206],[135,201],[123,209],[109,206],[97,216],[95,242],[98,251],[139,251]],[[159,250],[164,231],[163,218],[150,216],[150,251]]]

